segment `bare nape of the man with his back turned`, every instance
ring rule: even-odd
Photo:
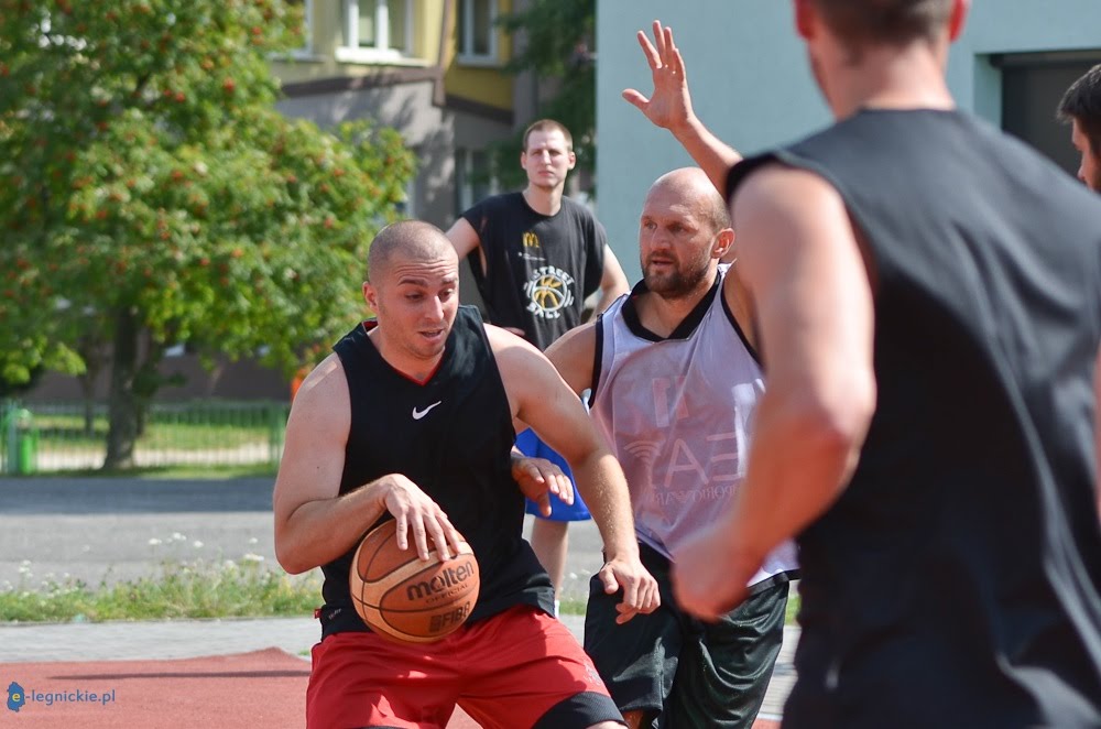
[[[858,63],[836,69],[833,113],[844,119],[861,109],[953,109],[945,61],[925,44],[868,50]]]

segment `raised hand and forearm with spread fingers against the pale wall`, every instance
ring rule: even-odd
[[[633,104],[654,124],[673,132],[696,164],[707,173],[719,194],[726,197],[727,172],[742,155],[704,126],[691,108],[688,75],[680,51],[673,42],[673,29],[654,21],[654,43],[639,31],[639,45],[650,63],[654,93],[647,99],[633,88],[623,98]]]

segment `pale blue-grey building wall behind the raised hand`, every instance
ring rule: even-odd
[[[697,115],[720,139],[752,153],[830,121],[792,8],[791,0],[597,0],[599,217],[629,278],[640,274],[637,216],[646,189],[662,173],[691,164],[668,132],[620,98],[624,88],[647,95],[653,88],[635,31],[648,33],[654,19],[673,28]],[[992,55],[1094,51],[1099,29],[1097,0],[979,0],[952,51],[949,86],[960,107],[1000,123],[1001,72]]]

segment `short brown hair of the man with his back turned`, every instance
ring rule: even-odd
[[[935,41],[952,0],[813,0],[830,30],[851,43]]]

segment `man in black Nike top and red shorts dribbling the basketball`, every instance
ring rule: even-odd
[[[456,704],[484,727],[620,726],[592,664],[550,617],[550,580],[522,538],[514,479],[537,496],[557,491],[560,476],[513,461],[513,423],[532,425],[573,467],[604,541],[601,579],[623,590],[625,621],[658,596],[618,463],[535,347],[458,306],[458,259],[442,231],[390,226],[368,268],[363,295],[378,318],[306,378],[275,481],[280,563],[325,573],[307,726],[444,727]],[[478,602],[437,643],[380,638],[352,609],[349,561],[388,512],[400,546],[426,558],[434,544],[446,556],[461,533],[478,559]]]

